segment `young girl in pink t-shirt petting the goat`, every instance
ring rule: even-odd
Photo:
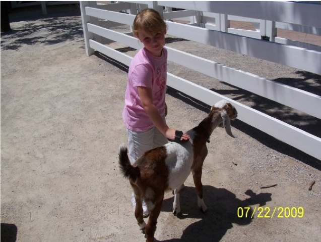
[[[135,55],[130,64],[122,113],[132,163],[145,151],[163,146],[167,139],[189,139],[187,134],[170,129],[165,121],[166,23],[157,11],[145,9],[136,16],[133,33],[144,44],[144,48]],[[132,203],[135,211],[134,197]],[[148,216],[145,202],[143,212],[144,216]]]

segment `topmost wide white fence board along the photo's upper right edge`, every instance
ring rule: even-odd
[[[287,1],[158,1],[161,6],[321,28],[321,5]]]

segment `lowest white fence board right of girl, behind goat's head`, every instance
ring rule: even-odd
[[[306,154],[321,159],[321,152],[317,149],[320,147],[321,139],[312,134],[170,73],[167,74],[167,83],[169,86],[211,106],[225,99],[236,108],[237,119],[304,151]]]

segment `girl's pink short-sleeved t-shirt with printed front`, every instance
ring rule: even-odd
[[[154,127],[142,106],[138,86],[152,88],[154,105],[160,115],[165,116],[166,75],[167,50],[165,48],[161,57],[153,56],[145,48],[135,55],[128,72],[125,107],[122,112],[122,119],[128,129],[144,131]]]

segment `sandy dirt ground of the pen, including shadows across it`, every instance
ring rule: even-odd
[[[0,241],[144,241],[117,164],[126,143],[126,67],[86,56],[79,10],[68,8],[51,8],[46,17],[11,13],[12,31],[0,34]],[[167,45],[321,93],[320,76],[311,73],[181,39],[168,37]],[[178,65],[169,63],[168,71],[265,108],[264,99]],[[209,111],[171,88],[166,99],[173,128],[188,130]],[[268,113],[319,136],[319,120],[296,120],[295,111],[283,115],[284,107],[269,105]],[[173,195],[165,195],[156,239],[321,241],[320,161],[239,120],[232,126],[236,138],[216,129],[208,144],[202,181],[209,211],[197,208],[188,177],[181,215],[173,216]]]

